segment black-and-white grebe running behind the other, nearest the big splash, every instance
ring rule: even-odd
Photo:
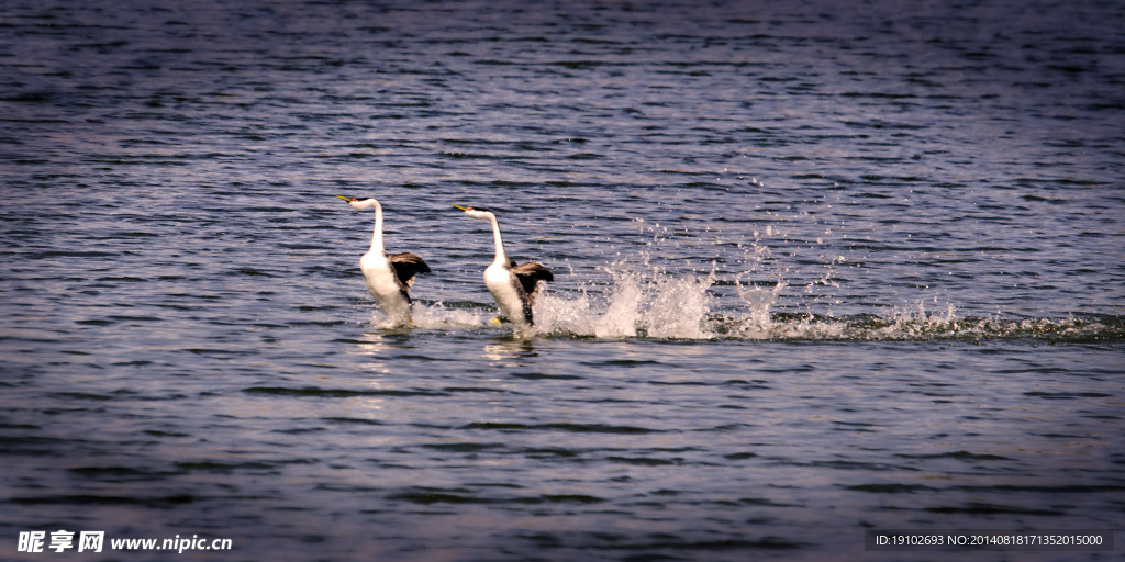
[[[471,218],[488,220],[493,226],[493,237],[496,242],[496,259],[492,265],[485,269],[485,287],[496,299],[502,317],[493,321],[504,321],[505,319],[514,324],[520,329],[525,329],[534,325],[531,308],[536,303],[536,294],[539,290],[540,281],[555,281],[555,275],[543,268],[541,263],[524,263],[516,265],[514,260],[508,260],[504,253],[504,242],[500,236],[500,224],[496,215],[488,209],[453,207],[465,211]]]

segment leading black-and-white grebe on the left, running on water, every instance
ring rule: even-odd
[[[382,311],[398,325],[413,326],[411,321],[411,285],[418,273],[430,273],[428,265],[416,254],[403,252],[388,254],[382,247],[382,206],[375,199],[358,199],[336,196],[353,209],[363,210],[375,207],[375,234],[371,236],[371,250],[359,260],[363,271],[367,290],[375,297]]]

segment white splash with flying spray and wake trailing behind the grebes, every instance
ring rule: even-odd
[[[878,312],[860,311],[837,299],[819,299],[824,290],[840,288],[840,268],[847,260],[821,263],[810,275],[783,269],[771,248],[757,238],[752,244],[712,242],[700,254],[714,255],[723,263],[722,279],[716,261],[705,271],[683,269],[684,245],[670,239],[666,229],[641,226],[650,235],[649,248],[598,268],[596,281],[551,284],[537,298],[536,327],[525,337],[647,338],[647,339],[736,339],[811,342],[926,342],[1024,339],[1044,342],[1123,342],[1125,316],[1097,312],[1059,312],[1058,316],[958,314],[957,306],[916,300]],[[772,228],[772,227],[767,227]],[[767,232],[767,235],[775,233]],[[726,253],[716,253],[722,251]],[[667,254],[665,256],[665,254]],[[664,257],[654,257],[660,255]],[[699,259],[688,260],[700,263]],[[791,275],[801,281],[790,284]],[[568,279],[575,279],[574,271]],[[793,308],[798,300],[817,301]],[[822,294],[819,294],[822,297]],[[784,298],[784,300],[783,300]],[[847,307],[849,314],[836,314]],[[971,308],[971,307],[970,307]],[[496,326],[493,302],[414,302],[413,320],[420,329],[489,329]],[[379,312],[376,314],[378,323]]]

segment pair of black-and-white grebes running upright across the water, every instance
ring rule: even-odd
[[[360,259],[359,266],[363,271],[367,290],[371,297],[375,297],[379,307],[395,321],[410,326],[410,290],[414,284],[414,277],[418,273],[430,273],[430,266],[416,254],[410,252],[387,253],[382,246],[382,206],[379,205],[379,201],[344,196],[336,197],[348,201],[348,205],[351,205],[353,209],[375,208],[375,234],[371,236],[371,250]],[[526,329],[534,324],[531,308],[536,303],[539,282],[554,281],[555,275],[540,263],[529,262],[516,265],[514,260],[507,257],[504,252],[504,242],[500,236],[500,224],[496,221],[496,215],[492,211],[459,205],[453,207],[465,211],[469,217],[492,223],[493,237],[496,242],[496,259],[485,270],[485,287],[488,288],[488,292],[500,306],[501,321],[507,319],[518,329]]]

